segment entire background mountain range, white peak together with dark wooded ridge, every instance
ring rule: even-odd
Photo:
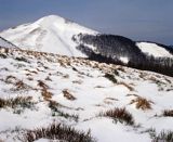
[[[122,36],[98,34],[55,15],[4,30],[0,36],[21,49],[82,56],[173,76],[172,48],[155,42],[136,42]]]

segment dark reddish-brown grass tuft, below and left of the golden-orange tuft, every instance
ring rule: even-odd
[[[125,125],[134,125],[134,119],[132,114],[130,114],[125,108],[114,108],[105,113],[101,113],[99,116],[111,117],[116,122],[120,121]]]

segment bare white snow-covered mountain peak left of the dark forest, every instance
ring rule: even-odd
[[[78,34],[96,34],[61,16],[50,15],[32,24],[10,28],[0,34],[22,49],[58,53],[70,56],[84,56],[71,40]]]

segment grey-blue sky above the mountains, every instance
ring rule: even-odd
[[[106,34],[173,44],[173,0],[0,0],[0,30],[50,14]]]

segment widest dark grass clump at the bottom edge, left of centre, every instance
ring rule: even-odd
[[[80,132],[69,126],[61,124],[52,124],[48,128],[38,128],[36,130],[28,130],[25,135],[25,142],[34,142],[41,138],[57,140],[62,142],[95,142],[88,133]]]

